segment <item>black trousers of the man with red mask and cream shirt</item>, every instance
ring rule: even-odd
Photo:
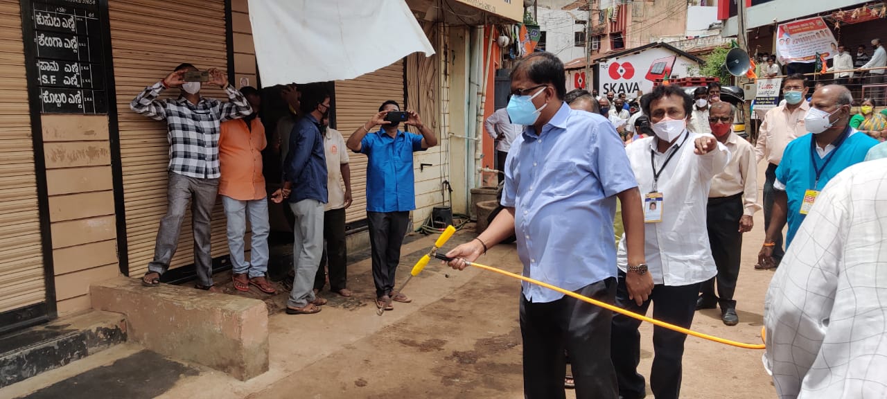
[[[733,294],[739,278],[739,264],[742,257],[742,233],[739,220],[742,218],[742,193],[731,197],[710,198],[708,208],[708,230],[711,256],[718,266],[718,276],[703,282],[705,301],[718,301],[721,311],[736,309]],[[715,295],[715,281],[718,294]]]

